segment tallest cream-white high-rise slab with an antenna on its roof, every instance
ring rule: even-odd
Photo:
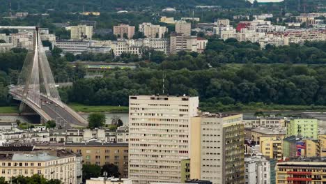
[[[178,183],[189,158],[190,119],[198,97],[132,95],[129,98],[129,178],[133,183]]]

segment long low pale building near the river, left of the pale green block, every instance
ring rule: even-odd
[[[244,128],[281,128],[285,127],[284,118],[275,117],[254,117],[243,118]]]

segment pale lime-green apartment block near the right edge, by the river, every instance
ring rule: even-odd
[[[318,138],[318,122],[317,119],[298,118],[291,119],[286,125],[286,137],[291,135],[301,136],[304,138]]]

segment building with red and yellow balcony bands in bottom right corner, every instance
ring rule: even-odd
[[[276,183],[326,183],[325,158],[291,158],[276,165]]]

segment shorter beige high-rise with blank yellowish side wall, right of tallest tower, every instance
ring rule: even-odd
[[[242,114],[201,114],[192,118],[190,178],[213,184],[244,183]]]

